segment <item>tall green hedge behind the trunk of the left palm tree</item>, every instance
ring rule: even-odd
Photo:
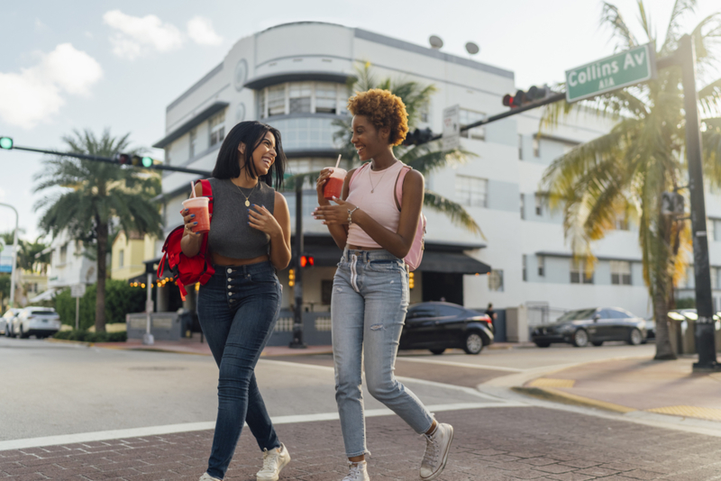
[[[86,331],[96,323],[97,285],[87,286],[80,298],[80,330]],[[55,310],[60,322],[75,326],[75,298],[70,289],[64,289],[55,296]],[[107,279],[105,281],[105,322],[125,322],[126,313],[141,313],[145,310],[145,291],[131,287],[126,281]]]

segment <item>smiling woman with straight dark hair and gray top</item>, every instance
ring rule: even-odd
[[[207,232],[215,274],[200,286],[197,314],[220,368],[218,415],[207,471],[200,481],[221,480],[233,458],[244,422],[263,451],[259,481],[276,481],[290,461],[278,440],[255,380],[255,365],[278,320],[282,288],[277,269],[290,261],[290,216],[276,192],[286,157],[280,132],[258,122],[235,125],[218,153],[210,185],[213,217]],[[275,177],[275,178],[274,178]],[[203,195],[200,183],[196,195]],[[203,235],[183,211],[181,248],[195,256]]]

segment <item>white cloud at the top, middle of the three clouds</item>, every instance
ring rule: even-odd
[[[180,48],[183,35],[170,23],[163,23],[155,15],[133,17],[120,10],[103,15],[103,22],[115,30],[110,37],[113,53],[123,59],[136,59],[151,51]]]

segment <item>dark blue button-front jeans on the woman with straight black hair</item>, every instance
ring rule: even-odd
[[[280,283],[268,261],[216,266],[214,276],[200,286],[198,319],[220,368],[210,476],[225,476],[244,422],[261,450],[280,447],[254,372],[278,320],[280,300]]]

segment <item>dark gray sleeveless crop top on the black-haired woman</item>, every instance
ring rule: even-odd
[[[233,259],[253,259],[269,254],[270,236],[248,224],[245,196],[231,179],[211,178],[213,218],[210,220],[208,247],[212,252]],[[275,207],[276,191],[260,180],[251,189],[242,189],[252,204],[264,205],[269,213]]]

